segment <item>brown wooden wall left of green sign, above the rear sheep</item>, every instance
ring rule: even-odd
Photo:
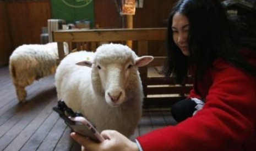
[[[50,0],[0,1],[0,66],[8,64],[10,54],[19,45],[39,44],[41,27],[47,26],[49,18]]]

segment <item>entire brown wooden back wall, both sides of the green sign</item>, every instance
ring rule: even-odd
[[[165,20],[175,2],[144,0],[143,8],[137,8],[133,16],[133,27],[166,27]],[[126,27],[126,18],[119,15],[114,0],[94,0],[94,7],[95,25]],[[50,0],[0,0],[0,67],[8,64],[10,54],[19,45],[39,44],[41,28],[47,26],[50,18]]]

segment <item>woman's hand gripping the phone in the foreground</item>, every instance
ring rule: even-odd
[[[115,130],[102,131],[101,135],[105,138],[105,141],[97,143],[75,132],[70,134],[85,150],[139,150],[136,143],[130,141],[127,137]]]

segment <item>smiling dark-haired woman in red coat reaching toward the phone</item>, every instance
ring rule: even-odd
[[[178,108],[191,98],[204,100],[203,108],[136,143],[111,130],[102,131],[102,143],[71,136],[88,150],[256,150],[256,36],[246,29],[227,18],[219,0],[179,1],[169,20],[165,73],[182,83],[189,71],[194,88]]]

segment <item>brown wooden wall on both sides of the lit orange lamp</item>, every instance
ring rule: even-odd
[[[118,0],[117,0],[118,1]],[[177,0],[144,0],[143,8],[136,8],[133,16],[134,28],[166,27],[166,19]],[[124,19],[119,15],[114,0],[95,0],[95,25],[99,27],[126,27]]]

